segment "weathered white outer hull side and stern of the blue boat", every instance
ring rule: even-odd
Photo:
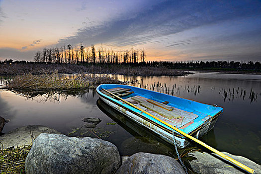
[[[97,87],[97,89],[98,89],[98,87]],[[178,146],[178,148],[184,148],[190,144],[191,140],[187,139],[183,135],[173,131],[172,129],[168,129],[166,127],[163,127],[163,126],[157,124],[156,122],[145,117],[140,112],[137,112],[134,109],[130,109],[129,107],[124,106],[122,103],[116,102],[109,96],[103,95],[99,90],[97,90],[97,92],[100,95],[101,100],[103,100],[109,106],[113,107],[114,109],[121,112],[126,117],[128,117],[129,119],[132,119],[133,121],[140,124],[141,126],[149,129],[150,131],[157,134],[165,141],[167,141],[171,144],[174,144],[174,138],[175,138],[175,143]],[[218,118],[218,115],[220,113],[217,113],[213,117],[208,117],[206,120],[204,120],[202,125],[198,126],[195,130],[191,131],[189,133],[189,135],[191,135],[195,138],[200,138],[203,135],[205,135],[208,131],[213,129],[213,127],[216,123],[216,120]],[[215,118],[215,119],[213,119],[213,118]],[[173,137],[173,134],[174,134],[174,137]]]

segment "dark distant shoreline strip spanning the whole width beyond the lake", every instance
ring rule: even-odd
[[[170,68],[166,66],[144,66],[144,65],[128,65],[128,64],[46,64],[46,63],[17,63],[17,64],[0,64],[1,76],[15,76],[21,74],[42,74],[54,73],[59,74],[113,74],[126,76],[184,76],[193,74],[191,72],[205,72],[216,74],[245,74],[245,75],[261,75],[261,70],[236,70],[228,68],[213,69],[188,69]]]

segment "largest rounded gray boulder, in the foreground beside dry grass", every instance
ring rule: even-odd
[[[110,142],[40,134],[25,160],[26,174],[111,174],[121,165],[118,149]]]

